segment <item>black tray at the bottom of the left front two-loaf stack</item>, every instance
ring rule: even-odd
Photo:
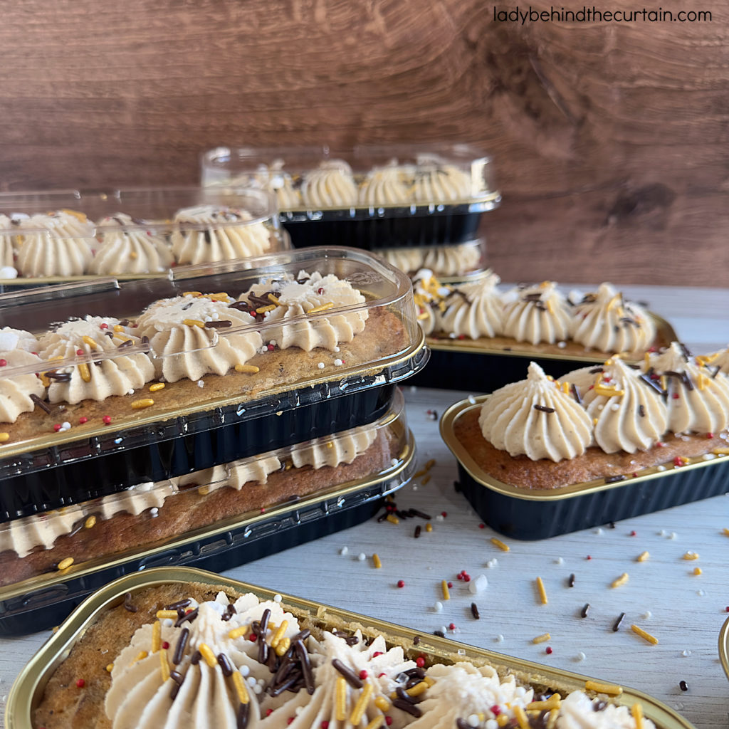
[[[414,469],[411,449],[405,467],[397,475],[384,477],[361,490],[334,491],[314,503],[313,497],[308,497],[308,504],[278,510],[270,518],[243,521],[227,531],[192,538],[174,548],[152,550],[141,558],[122,559],[82,577],[69,577],[55,585],[0,599],[0,635],[34,633],[58,625],[95,590],[131,572],[171,566],[222,572],[356,526],[381,509],[385,496],[405,486]]]

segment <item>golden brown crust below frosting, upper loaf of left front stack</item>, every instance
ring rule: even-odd
[[[238,402],[246,402],[262,397],[269,391],[294,389],[297,383],[324,375],[331,375],[330,379],[337,380],[338,375],[332,373],[332,370],[341,370],[343,367],[333,364],[335,358],[342,359],[347,368],[356,364],[372,363],[376,369],[381,359],[402,350],[407,338],[405,326],[399,316],[381,307],[371,308],[369,313],[364,330],[351,342],[340,343],[340,351],[336,354],[324,348],[314,348],[309,352],[298,347],[276,348],[265,354],[256,354],[246,362],[260,367],[260,372],[238,373],[231,369],[225,375],[205,375],[201,378],[204,383],[202,388],[197,381],[185,379],[167,383],[164,389],[150,393],[150,382],[133,394],[114,395],[101,402],[82,400],[76,405],[48,404],[50,413],[36,405],[33,412],[22,413],[15,423],[0,425],[0,430],[9,434],[4,443],[12,445],[27,441],[28,450],[32,450],[34,439],[39,435],[52,435],[54,425],[64,421],[71,424],[70,434],[74,439],[84,438],[91,432],[98,432],[100,427],[113,433],[122,427],[136,425],[141,417],[147,418],[157,413],[157,420],[165,421],[179,415],[179,410],[186,405],[190,406],[190,412],[208,410],[214,408],[221,399],[231,396],[236,396]],[[319,370],[319,362],[326,365],[324,370]],[[151,397],[155,404],[144,410],[131,408],[132,402],[146,397]],[[63,405],[63,410],[59,405]],[[112,418],[109,426],[101,425],[104,416]],[[85,424],[79,424],[81,417],[87,418]],[[67,436],[68,433],[64,435]]]

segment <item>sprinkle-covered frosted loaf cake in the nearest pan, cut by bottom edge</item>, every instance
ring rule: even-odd
[[[655,729],[639,703],[606,701],[590,682],[572,692],[546,687],[324,620],[209,585],[136,590],[102,612],[55,669],[33,725]]]

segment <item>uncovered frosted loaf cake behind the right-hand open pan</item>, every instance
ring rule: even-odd
[[[625,302],[610,284],[572,302],[553,281],[508,292],[499,291],[499,281],[488,272],[477,281],[444,286],[431,270],[419,271],[413,286],[426,335],[458,339],[474,348],[561,357],[597,351],[640,358],[656,345],[656,327],[647,311]]]

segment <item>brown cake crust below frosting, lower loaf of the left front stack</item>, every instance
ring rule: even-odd
[[[19,558],[15,552],[0,554],[0,585],[12,585],[54,569],[59,561],[73,557],[75,564],[91,558],[128,550],[130,545],[150,548],[176,535],[185,534],[226,519],[257,515],[262,508],[282,504],[292,496],[308,496],[326,491],[349,481],[376,474],[391,465],[397,443],[387,429],[378,431],[374,443],[360,453],[351,464],[336,467],[311,466],[277,471],[268,476],[268,483],[246,483],[240,491],[218,488],[209,494],[200,494],[195,487],[169,496],[157,510],[157,517],[149,512],[134,516],[119,513],[110,519],[98,518],[91,529],[80,529],[76,534],[64,534],[56,539],[50,550],[37,550]],[[294,503],[292,502],[292,507]]]

